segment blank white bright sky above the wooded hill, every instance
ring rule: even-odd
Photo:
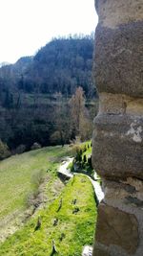
[[[58,35],[91,34],[94,0],[0,0],[0,62],[31,56]]]

